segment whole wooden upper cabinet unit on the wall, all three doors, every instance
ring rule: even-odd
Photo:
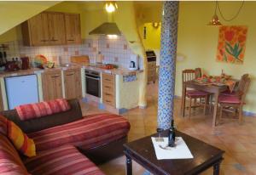
[[[80,14],[43,12],[21,25],[26,46],[81,43]]]

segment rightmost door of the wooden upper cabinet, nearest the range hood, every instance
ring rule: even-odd
[[[67,44],[81,43],[80,14],[65,14]]]

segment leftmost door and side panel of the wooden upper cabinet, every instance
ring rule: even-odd
[[[21,31],[26,46],[49,45],[48,15],[38,14],[22,23]]]

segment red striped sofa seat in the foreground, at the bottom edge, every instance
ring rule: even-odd
[[[71,145],[42,151],[37,156],[25,160],[25,165],[28,172],[38,175],[104,174],[94,163]]]

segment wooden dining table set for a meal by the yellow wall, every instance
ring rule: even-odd
[[[207,93],[212,93],[215,99],[214,110],[213,110],[213,119],[212,127],[216,126],[217,121],[217,112],[218,112],[218,95],[228,89],[228,86],[225,84],[218,83],[201,83],[195,80],[183,82],[183,91],[182,91],[182,106],[181,112],[182,116],[185,116],[185,102],[186,102],[186,91],[187,88],[192,88],[195,90],[201,90]]]

